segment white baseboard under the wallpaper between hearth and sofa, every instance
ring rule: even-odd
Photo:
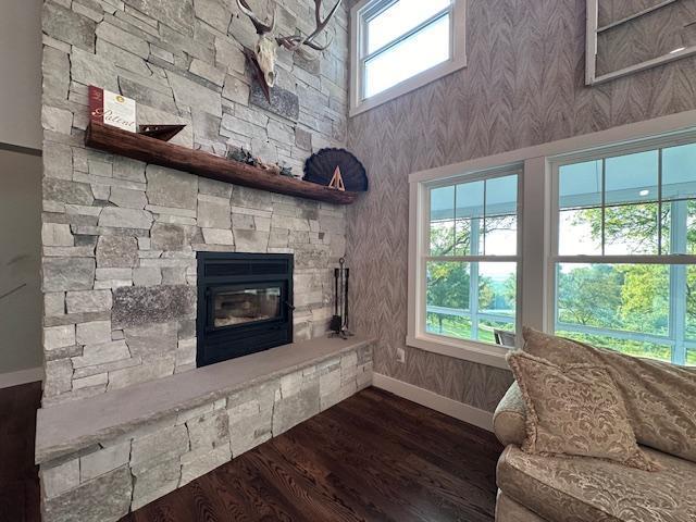
[[[405,383],[403,381],[397,381],[394,377],[388,377],[381,373],[373,374],[372,385],[432,410],[439,411],[446,415],[493,432],[493,413],[489,411],[480,410],[473,406],[443,397],[428,389],[419,388],[418,386]]]

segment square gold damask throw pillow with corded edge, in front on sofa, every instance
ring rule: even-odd
[[[524,451],[659,469],[638,448],[621,393],[607,370],[594,364],[558,366],[523,351],[509,353],[508,363],[527,408]]]

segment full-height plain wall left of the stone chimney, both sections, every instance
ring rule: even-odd
[[[16,148],[41,149],[40,111],[41,0],[0,0],[0,386],[41,365],[42,166]]]

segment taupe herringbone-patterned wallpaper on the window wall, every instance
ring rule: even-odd
[[[350,122],[371,189],[349,211],[348,252],[375,371],[493,410],[509,372],[405,347],[408,175],[694,109],[696,60],[586,88],[585,0],[469,0],[468,30],[465,70]]]

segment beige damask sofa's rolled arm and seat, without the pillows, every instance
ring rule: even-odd
[[[496,522],[696,521],[696,462],[646,447],[661,471],[527,455],[520,449],[525,411],[514,383],[494,415],[496,436],[506,446],[497,468]]]

